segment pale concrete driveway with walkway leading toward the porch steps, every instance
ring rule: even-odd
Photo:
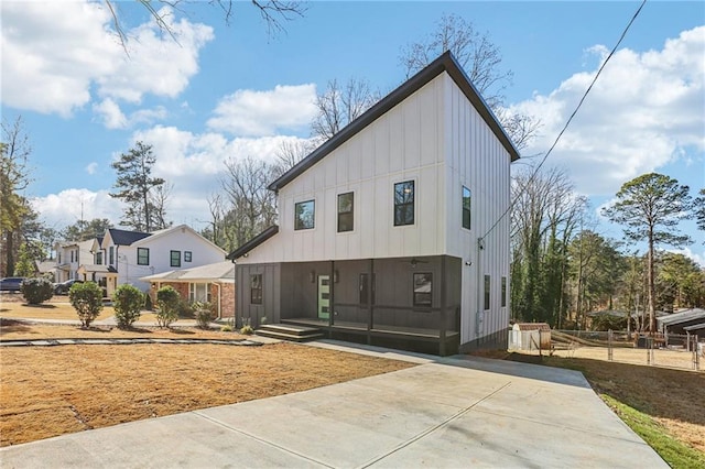
[[[316,346],[420,363],[311,391],[0,449],[3,468],[666,468],[575,371]],[[197,385],[197,383],[194,383]]]

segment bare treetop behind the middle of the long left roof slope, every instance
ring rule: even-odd
[[[311,123],[311,133],[324,140],[330,139],[348,123],[360,117],[380,99],[369,81],[350,78],[345,86],[338,80],[328,81],[323,95],[316,97],[318,113]]]

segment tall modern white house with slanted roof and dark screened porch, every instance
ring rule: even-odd
[[[441,355],[506,348],[519,152],[452,54],[270,185],[279,226],[237,262],[237,319]]]

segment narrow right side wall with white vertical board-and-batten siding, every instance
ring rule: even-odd
[[[509,299],[501,306],[501,277],[509,294],[510,155],[453,79],[446,86],[445,186],[447,254],[463,259],[460,343],[500,334],[509,325]],[[463,228],[463,186],[471,192],[470,229]],[[491,231],[490,231],[491,229]],[[489,231],[489,233],[488,233]],[[484,249],[478,238],[486,236]],[[470,262],[470,265],[466,265]],[[484,277],[490,275],[490,309],[484,309]]]

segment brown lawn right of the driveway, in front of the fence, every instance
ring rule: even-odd
[[[607,361],[606,351],[593,350],[589,353],[595,355],[590,357],[588,351],[583,353],[583,357],[543,359],[511,353],[509,359],[582,371],[598,394],[653,416],[671,435],[705,454],[705,372]]]

